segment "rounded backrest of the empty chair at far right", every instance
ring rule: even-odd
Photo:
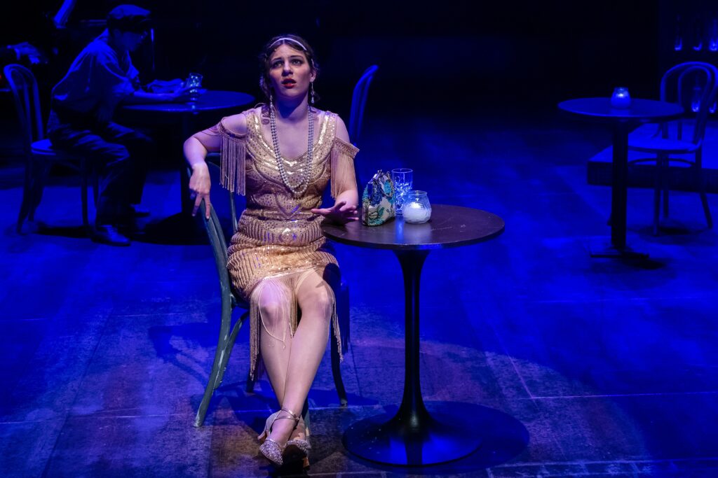
[[[718,69],[704,62],[676,64],[661,79],[661,100],[683,106],[686,118],[695,118],[691,143],[703,140],[708,121],[708,111],[718,90]],[[694,115],[691,115],[694,113]],[[684,120],[677,122],[677,137],[683,139]],[[663,137],[668,138],[668,125],[662,126]]]

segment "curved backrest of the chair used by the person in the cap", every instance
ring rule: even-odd
[[[35,75],[21,64],[8,64],[3,73],[15,100],[15,109],[24,136],[25,153],[29,154],[34,141],[45,139],[37,80]]]

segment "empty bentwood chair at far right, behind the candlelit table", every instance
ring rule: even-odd
[[[713,227],[711,211],[706,197],[706,181],[702,167],[703,138],[706,131],[708,111],[713,104],[718,70],[712,64],[701,62],[681,63],[668,70],[661,79],[661,100],[678,103],[686,110],[684,118],[661,123],[656,133],[646,138],[629,138],[628,148],[655,155],[630,163],[652,162],[655,167],[653,193],[653,234],[658,234],[663,193],[663,216],[668,217],[668,190],[671,187],[671,163],[693,169],[694,186],[699,193],[703,212],[709,228]],[[692,125],[692,128],[691,128]],[[684,134],[684,127],[686,134]],[[692,129],[692,131],[691,131]],[[692,154],[694,159],[676,155]]]

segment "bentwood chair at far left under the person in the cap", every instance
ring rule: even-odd
[[[8,64],[3,72],[15,100],[25,153],[25,179],[22,204],[17,216],[17,231],[22,230],[22,223],[26,218],[30,221],[34,220],[35,209],[42,199],[45,179],[52,163],[61,163],[80,172],[83,225],[88,228],[88,177],[90,176],[93,180],[95,203],[98,195],[98,178],[95,168],[81,156],[52,148],[50,140],[45,138],[37,81],[32,72],[19,64]]]

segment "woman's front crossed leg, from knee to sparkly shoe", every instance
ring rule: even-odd
[[[327,268],[325,277],[330,281],[337,280],[338,274],[332,274],[331,270]],[[311,272],[299,285],[297,302],[302,310],[302,320],[297,325],[294,338],[290,339],[292,346],[286,370],[284,399],[279,403],[295,414],[300,414],[327,348],[329,325],[334,311],[334,293],[319,273]],[[295,426],[296,424],[289,420],[277,421],[276,428],[272,429],[271,439],[279,443],[286,442]],[[304,438],[304,428],[300,427],[299,431],[301,434],[293,438]]]

